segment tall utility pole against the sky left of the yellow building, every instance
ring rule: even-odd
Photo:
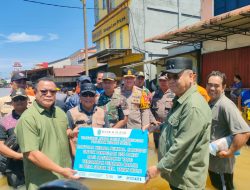
[[[89,76],[89,57],[88,57],[88,34],[87,34],[87,18],[86,18],[86,0],[81,0],[83,5],[83,31],[84,31],[84,48],[85,48],[85,74]],[[83,68],[84,69],[84,68]]]

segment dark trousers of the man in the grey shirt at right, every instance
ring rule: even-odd
[[[233,174],[228,174],[228,173],[218,174],[212,171],[208,172],[211,183],[216,189],[223,190],[223,187],[226,188],[226,190],[234,189]]]

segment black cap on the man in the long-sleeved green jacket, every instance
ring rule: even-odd
[[[166,72],[167,73],[180,73],[184,70],[192,70],[193,61],[186,57],[175,57],[168,59],[166,62]]]

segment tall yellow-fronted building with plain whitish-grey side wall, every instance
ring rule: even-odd
[[[169,53],[164,48],[171,44],[144,43],[145,38],[199,20],[200,0],[95,0],[93,56],[118,76],[121,67],[132,66],[154,79],[156,65]]]

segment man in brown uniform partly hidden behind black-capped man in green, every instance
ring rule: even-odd
[[[167,75],[162,72],[158,78],[159,89],[152,93],[151,112],[156,121],[163,123],[173,105],[175,94],[168,88]],[[158,148],[160,132],[154,132],[155,148]]]

